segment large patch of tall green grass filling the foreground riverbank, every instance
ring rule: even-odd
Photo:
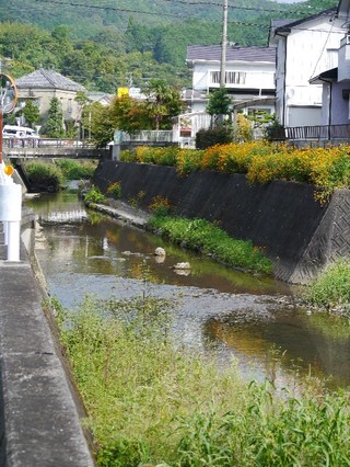
[[[86,298],[58,314],[98,466],[349,465],[348,392],[281,399],[271,385],[176,351],[167,306]]]

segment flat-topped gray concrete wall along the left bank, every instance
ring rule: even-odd
[[[26,249],[5,261],[0,247],[0,465],[94,466],[83,410],[61,349],[45,315],[40,287]]]

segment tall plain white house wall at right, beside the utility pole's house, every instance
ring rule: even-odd
[[[311,83],[338,65],[343,20],[337,9],[298,21],[271,21],[269,45],[277,47],[276,114],[287,127],[320,125],[323,86]]]

